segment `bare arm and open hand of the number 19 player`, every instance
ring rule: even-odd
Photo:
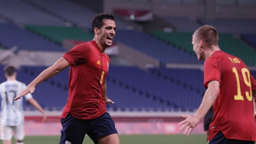
[[[185,120],[181,121],[179,125],[182,125],[180,130],[186,127],[185,131],[183,132],[184,135],[189,135],[190,132],[194,127],[196,127],[204,115],[209,111],[215,100],[219,95],[219,82],[213,80],[208,83],[208,88],[204,94],[204,98],[200,107],[197,109],[197,112],[194,116],[183,115],[181,117],[186,118]]]

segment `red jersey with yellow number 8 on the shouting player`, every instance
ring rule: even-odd
[[[63,55],[70,63],[68,100],[61,118],[71,113],[78,119],[98,118],[106,112],[104,83],[110,59],[92,40],[80,43]]]

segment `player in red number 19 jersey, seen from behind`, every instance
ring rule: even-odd
[[[253,96],[256,81],[244,62],[220,50],[218,32],[204,25],[192,36],[193,51],[204,60],[204,86],[207,88],[202,103],[194,116],[183,115],[180,130],[189,135],[213,106],[214,116],[209,126],[209,144],[254,144]]]

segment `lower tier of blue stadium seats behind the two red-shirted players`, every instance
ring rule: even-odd
[[[27,84],[45,68],[42,66],[23,66],[18,72],[21,76],[18,77],[18,80]],[[40,104],[50,110],[55,108],[53,106],[55,102],[57,108],[64,106],[65,101],[59,102],[59,99],[64,98],[66,100],[68,70],[65,69],[38,85],[35,98],[40,97],[38,98]],[[161,71],[163,75],[165,73],[164,69],[154,70]],[[168,69],[165,70],[168,72]],[[169,71],[174,71],[174,69],[169,69]],[[160,78],[159,75],[145,72],[137,67],[110,66],[110,73],[107,78],[108,95],[117,103],[108,105],[107,108],[113,111],[194,111],[200,104],[202,89],[191,86],[188,84],[189,82],[185,83],[185,79],[188,78],[187,70],[177,69],[170,78],[181,71],[183,71],[183,76],[187,75],[183,78],[184,82],[183,80],[175,79],[172,81],[171,79]],[[192,74],[191,71],[189,73]],[[190,79],[196,79],[202,75],[202,72],[195,70],[193,75],[196,77]],[[44,92],[46,89],[47,92]]]

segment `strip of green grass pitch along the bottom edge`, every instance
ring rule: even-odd
[[[206,144],[205,135],[119,135],[121,144]],[[25,144],[58,144],[59,136],[25,137]],[[1,142],[2,144],[2,142]],[[14,140],[12,144],[15,144]],[[83,144],[93,144],[85,136]]]

